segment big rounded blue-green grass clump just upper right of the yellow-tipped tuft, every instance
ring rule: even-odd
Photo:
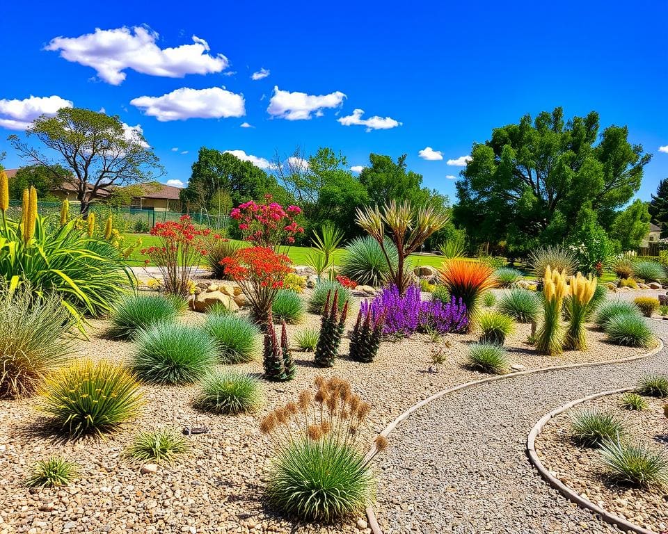
[[[133,368],[146,382],[196,382],[216,364],[216,341],[198,327],[155,323],[145,330],[138,330],[135,342]]]

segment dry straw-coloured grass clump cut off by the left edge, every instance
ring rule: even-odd
[[[35,298],[27,285],[10,292],[0,284],[0,398],[33,394],[67,361],[72,323],[55,294]]]

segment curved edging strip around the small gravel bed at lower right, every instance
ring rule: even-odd
[[[536,468],[536,471],[539,472],[539,474],[546,480],[546,482],[555,488],[560,494],[566,497],[566,499],[573,501],[575,504],[580,506],[580,508],[585,508],[591,512],[594,512],[596,515],[601,516],[601,519],[603,519],[603,521],[606,523],[618,526],[626,532],[633,532],[636,534],[656,534],[654,531],[650,531],[635,523],[631,523],[627,519],[623,519],[623,517],[620,517],[619,515],[609,512],[608,510],[605,510],[605,508],[601,508],[601,506],[592,503],[589,501],[589,499],[585,499],[578,492],[575,492],[575,489],[564,484],[561,480],[559,480],[559,478],[552,475],[552,473],[550,473],[550,471],[543,465],[543,462],[541,462],[538,453],[536,453],[536,437],[540,435],[541,430],[543,430],[550,419],[553,419],[555,416],[562,414],[570,410],[572,407],[587,401],[593,401],[596,398],[601,398],[608,395],[624,393],[625,391],[632,391],[633,389],[633,387],[623,387],[621,389],[611,389],[609,391],[602,391],[601,393],[594,393],[587,395],[586,397],[578,398],[576,401],[566,403],[562,406],[559,406],[558,408],[555,408],[555,410],[552,410],[552,412],[545,414],[543,417],[541,417],[540,421],[534,425],[534,428],[531,429],[531,432],[529,432],[529,436],[527,437],[527,455],[529,456],[529,461],[533,467]]]

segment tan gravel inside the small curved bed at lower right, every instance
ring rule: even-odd
[[[605,478],[605,465],[596,448],[577,446],[571,439],[571,416],[580,410],[610,412],[623,420],[627,437],[655,448],[665,448],[665,399],[647,398],[649,409],[642,412],[623,410],[620,394],[587,401],[548,421],[536,439],[536,452],[543,465],[576,492],[629,521],[660,532],[668,530],[668,501],[665,489],[635,489],[615,485]]]

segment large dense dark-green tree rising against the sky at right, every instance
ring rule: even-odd
[[[628,142],[626,127],[599,136],[596,112],[564,120],[562,108],[494,129],[475,143],[457,181],[456,223],[475,243],[507,241],[527,252],[559,243],[586,203],[609,229],[615,210],[637,192],[651,154]]]

